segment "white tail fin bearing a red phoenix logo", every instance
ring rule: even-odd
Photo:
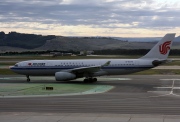
[[[166,34],[145,56],[141,59],[167,59],[175,33]]]

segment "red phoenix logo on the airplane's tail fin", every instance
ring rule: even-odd
[[[171,41],[164,42],[163,44],[159,45],[159,52],[163,55],[166,55],[167,52],[170,50]]]

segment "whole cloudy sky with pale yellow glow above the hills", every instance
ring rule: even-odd
[[[180,35],[179,0],[2,0],[0,31],[42,35]]]

